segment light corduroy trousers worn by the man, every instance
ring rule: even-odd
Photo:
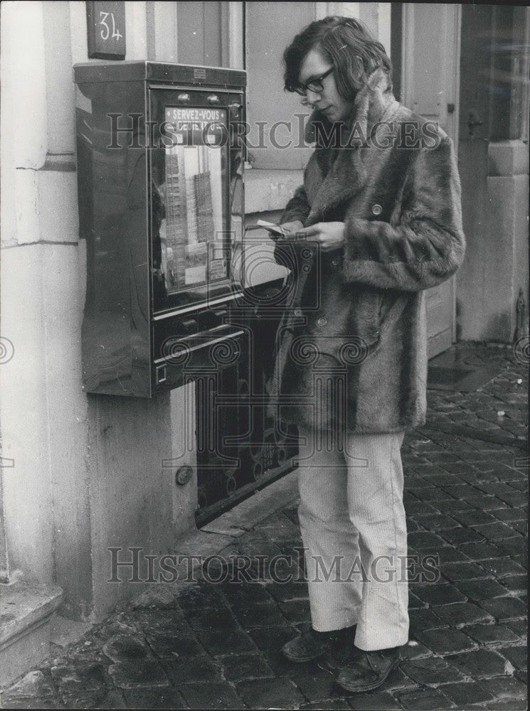
[[[298,515],[312,626],[356,624],[366,651],[408,641],[404,432],[345,434],[300,425]]]

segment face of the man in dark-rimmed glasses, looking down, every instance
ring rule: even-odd
[[[300,84],[307,84],[319,79],[332,66],[332,63],[317,48],[313,48],[304,57],[298,81]],[[351,112],[351,105],[337,91],[334,72],[322,79],[322,87],[322,92],[307,89],[307,104],[317,108],[329,121],[344,121]]]

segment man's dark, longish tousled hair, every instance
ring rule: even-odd
[[[330,16],[307,25],[285,49],[286,91],[295,91],[302,62],[313,48],[333,63],[337,91],[346,101],[354,99],[373,70],[381,68],[391,78],[391,60],[366,26],[351,17]]]

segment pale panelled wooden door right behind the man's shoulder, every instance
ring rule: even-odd
[[[403,4],[401,94],[415,113],[436,121],[458,145],[460,6]],[[429,358],[455,341],[455,279],[428,289]]]

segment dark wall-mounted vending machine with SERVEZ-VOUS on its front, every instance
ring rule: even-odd
[[[233,365],[245,72],[74,67],[86,392],[152,397]]]

